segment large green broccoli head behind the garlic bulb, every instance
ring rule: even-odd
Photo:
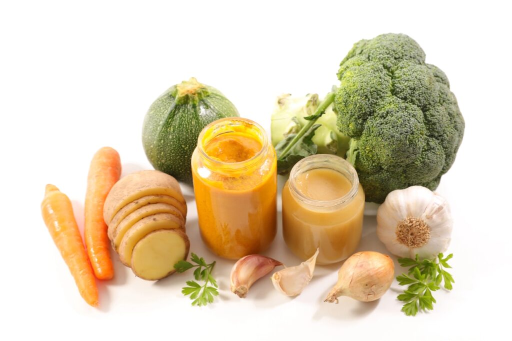
[[[337,125],[353,139],[347,159],[367,201],[413,185],[434,190],[464,134],[446,75],[409,36],[383,34],[355,43],[338,78]]]

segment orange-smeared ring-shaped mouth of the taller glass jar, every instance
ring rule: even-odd
[[[261,149],[247,160],[240,162],[224,162],[218,158],[211,157],[208,155],[208,153],[206,153],[205,147],[208,142],[218,137],[219,135],[237,132],[237,129],[251,130],[255,137],[259,139],[259,142],[261,142]],[[268,138],[265,130],[258,123],[241,117],[227,117],[211,122],[206,127],[204,127],[197,139],[197,147],[201,157],[208,164],[224,171],[238,171],[250,168],[261,160],[261,158],[265,155],[265,150],[268,148]]]

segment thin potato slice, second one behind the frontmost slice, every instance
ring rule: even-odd
[[[132,226],[137,223],[142,218],[145,218],[147,216],[151,216],[157,213],[169,213],[174,216],[176,216],[178,219],[180,219],[182,225],[185,224],[185,220],[183,216],[181,215],[181,212],[178,211],[177,208],[174,206],[171,206],[167,203],[150,203],[146,206],[143,206],[129,215],[126,216],[123,220],[119,222],[117,226],[109,226],[109,237],[112,240],[112,245],[114,246],[114,249],[117,251],[119,248],[119,245],[121,244],[121,240],[124,237],[124,234],[132,228]],[[112,237],[111,237],[112,236]]]

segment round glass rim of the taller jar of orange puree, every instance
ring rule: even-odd
[[[226,122],[239,123],[240,125],[245,125],[247,127],[251,127],[257,133],[257,136],[260,139],[261,149],[257,153],[252,155],[250,158],[248,158],[247,160],[239,161],[239,162],[224,162],[224,161],[219,160],[218,158],[214,158],[214,157],[211,157],[210,155],[208,155],[208,153],[206,153],[206,151],[204,149],[204,147],[206,146],[205,134],[207,132],[209,132],[210,130],[215,129],[216,126],[225,126]],[[221,135],[223,133],[229,133],[229,132],[233,132],[233,131],[228,130],[228,131],[222,131],[217,134],[214,133],[211,135],[211,138],[208,141],[218,137],[219,135]],[[265,154],[265,150],[268,148],[268,137],[267,137],[267,134],[266,134],[265,130],[263,129],[263,127],[260,124],[254,122],[252,120],[242,118],[242,117],[226,117],[226,118],[222,118],[222,119],[219,119],[219,120],[209,123],[207,126],[205,126],[203,128],[203,130],[201,130],[201,133],[199,134],[199,137],[197,139],[197,147],[198,147],[198,150],[199,150],[199,153],[201,154],[201,156],[211,165],[216,165],[217,167],[221,167],[224,169],[224,171],[241,170],[241,169],[250,168],[252,165],[257,163],[262,158],[262,156]]]

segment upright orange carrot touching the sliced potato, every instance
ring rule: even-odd
[[[100,280],[114,277],[110,258],[111,244],[106,233],[108,226],[103,220],[103,204],[120,176],[121,160],[118,152],[110,147],[98,150],[91,161],[87,178],[84,237],[94,274]]]

